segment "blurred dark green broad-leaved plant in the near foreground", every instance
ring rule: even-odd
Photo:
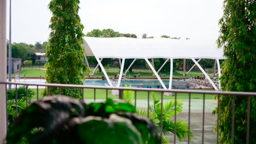
[[[8,143],[160,143],[156,125],[130,104],[107,99],[85,104],[70,97],[44,97],[24,111]]]

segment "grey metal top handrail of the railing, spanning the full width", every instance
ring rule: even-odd
[[[25,85],[25,86],[46,86],[46,87],[69,87],[69,88],[94,88],[94,89],[116,89],[130,91],[147,91],[147,92],[177,92],[177,93],[200,93],[200,94],[222,94],[222,95],[244,95],[256,96],[256,92],[223,92],[223,91],[198,91],[184,89],[161,89],[161,88],[137,88],[137,87],[106,87],[106,86],[86,86],[86,85],[69,85],[57,83],[31,83],[31,82],[1,82],[0,84]]]

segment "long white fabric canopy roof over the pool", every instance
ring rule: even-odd
[[[224,59],[216,40],[84,37],[86,56],[98,58],[210,58]],[[91,53],[91,54],[89,54]]]

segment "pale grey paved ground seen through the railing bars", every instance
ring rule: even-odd
[[[85,100],[86,103],[94,101],[93,99]],[[96,101],[104,101],[102,99],[97,99]],[[164,102],[170,100],[163,100]],[[182,99],[183,112],[180,115],[177,115],[177,119],[182,119],[188,123],[188,103],[189,100]],[[150,104],[153,101],[150,100]],[[202,113],[203,113],[203,100],[202,99],[191,99],[190,103],[190,128],[193,131],[194,137],[190,140],[190,143],[202,143]],[[137,109],[147,109],[148,101],[147,99],[138,99],[137,100]],[[212,111],[217,106],[215,100],[206,99],[205,100],[205,130],[204,130],[204,143],[216,143],[217,135],[213,132],[213,127],[217,116],[212,115]],[[168,136],[170,143],[174,143],[173,134]],[[186,141],[179,142],[176,139],[176,143],[188,143]]]

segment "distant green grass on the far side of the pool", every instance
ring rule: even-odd
[[[141,74],[140,77],[142,77],[142,78],[149,77],[149,78],[155,78],[156,79],[156,76],[153,75],[152,70],[147,70],[147,69],[135,69],[132,74],[127,73],[126,77],[133,77],[135,74],[138,74],[138,73]],[[27,69],[27,70],[20,71],[19,74],[20,74],[21,77],[23,77],[24,74],[26,75],[26,77],[39,77],[40,74],[41,74],[42,77],[44,77],[45,76],[45,70],[40,70],[40,69],[28,70]],[[109,68],[107,70],[107,74],[108,74],[109,77],[114,77],[114,75],[119,74],[119,68]],[[176,70],[173,73],[173,77],[174,78],[179,78],[179,77],[188,78],[188,77],[198,76],[198,75],[201,75],[201,74],[202,74],[201,72],[191,71],[188,76],[183,76],[183,71]],[[88,75],[88,74],[86,74],[86,75]],[[102,76],[104,76],[103,73],[97,72],[97,73],[95,73],[94,76],[90,76],[90,77],[102,77]],[[170,74],[167,73],[165,76],[161,76],[161,77],[162,78],[169,78]],[[212,75],[210,75],[210,77],[212,77]],[[137,77],[137,78],[139,79],[139,77]]]

